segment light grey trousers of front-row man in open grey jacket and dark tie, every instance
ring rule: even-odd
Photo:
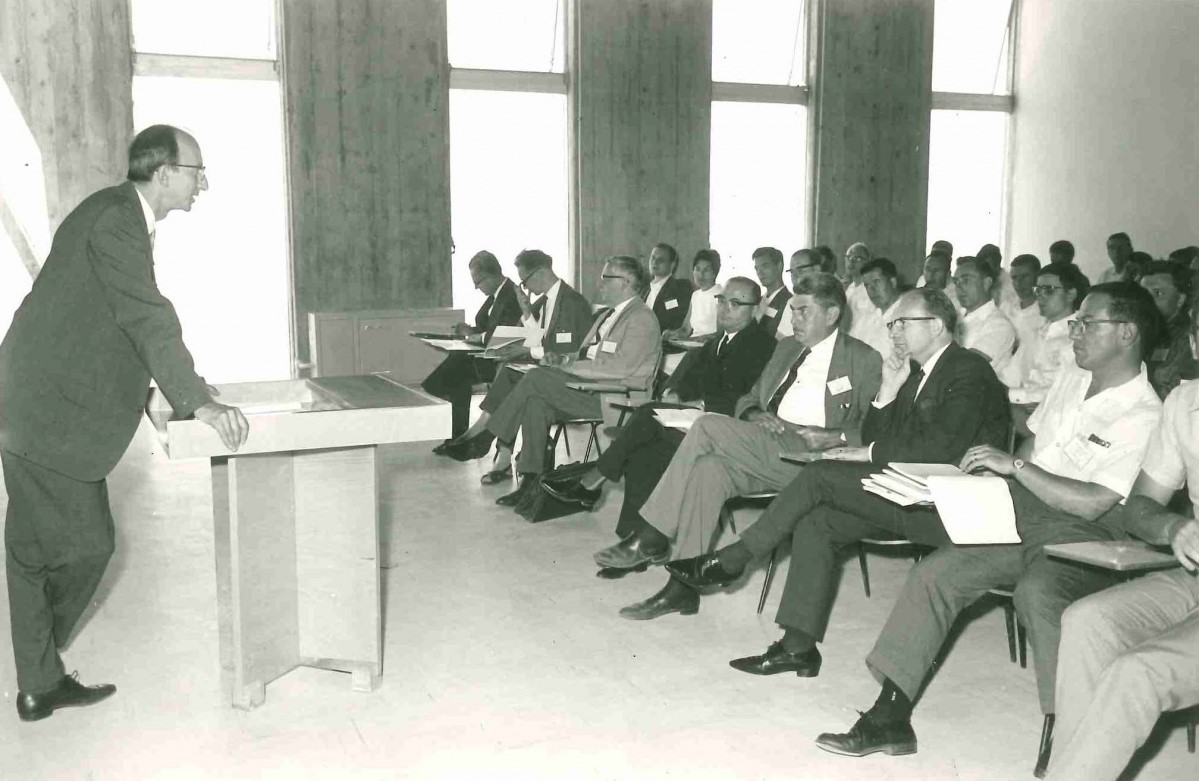
[[[704,415],[692,425],[641,517],[674,540],[673,559],[707,551],[724,503],[742,493],[781,491],[800,465],[778,457],[807,450],[799,434],[775,434],[757,423]]]

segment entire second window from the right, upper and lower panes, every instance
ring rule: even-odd
[[[713,0],[710,244],[722,278],[808,240],[803,0]]]

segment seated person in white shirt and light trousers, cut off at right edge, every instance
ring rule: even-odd
[[[1053,781],[1115,781],[1158,716],[1199,704],[1199,383],[1165,399],[1125,509],[1126,530],[1169,545],[1183,569],[1071,605],[1058,651]],[[1167,509],[1188,486],[1191,517]]]

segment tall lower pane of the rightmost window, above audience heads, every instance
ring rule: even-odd
[[[928,244],[945,239],[954,256],[1002,246],[1007,114],[933,112],[928,154]]]

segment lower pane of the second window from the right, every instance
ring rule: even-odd
[[[806,150],[806,107],[712,103],[710,239],[722,281],[757,278],[757,247],[789,257],[807,245]]]

